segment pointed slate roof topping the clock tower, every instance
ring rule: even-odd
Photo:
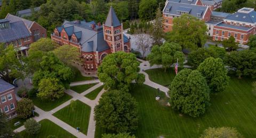
[[[111,6],[110,9],[109,9],[109,12],[108,12],[108,17],[107,17],[105,26],[107,26],[107,27],[111,27],[111,26],[118,27],[120,25],[121,25],[121,23],[120,23],[120,21],[118,20],[118,18],[116,16],[114,8]]]

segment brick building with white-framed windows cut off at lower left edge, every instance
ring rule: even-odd
[[[14,86],[2,79],[0,79],[0,111],[7,115],[7,117],[15,117],[17,107],[17,100],[14,93]]]

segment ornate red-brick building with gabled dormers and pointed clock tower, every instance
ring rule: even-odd
[[[64,21],[55,28],[51,38],[59,45],[79,49],[86,74],[94,74],[106,55],[131,50],[130,39],[123,34],[123,24],[113,7],[110,7],[107,20],[102,25],[94,21]]]

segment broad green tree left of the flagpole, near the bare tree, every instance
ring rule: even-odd
[[[182,66],[185,60],[184,54],[181,52],[181,46],[174,42],[165,42],[160,47],[153,46],[151,53],[147,57],[151,66],[162,64],[165,71],[167,67],[171,67],[173,63],[177,62],[177,58],[179,59],[179,65]]]

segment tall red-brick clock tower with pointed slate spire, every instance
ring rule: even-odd
[[[114,8],[111,6],[108,17],[103,24],[104,40],[108,43],[111,53],[124,51],[123,24],[118,20]]]

